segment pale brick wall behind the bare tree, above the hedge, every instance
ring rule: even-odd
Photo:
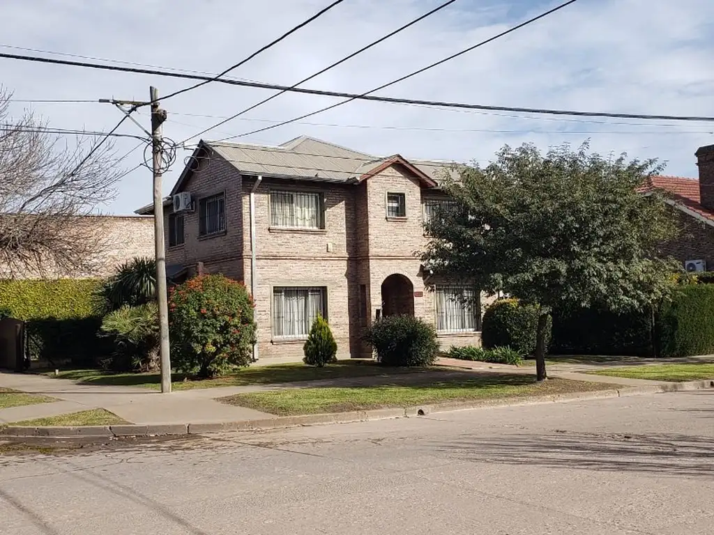
[[[86,215],[61,224],[73,239],[82,240],[77,247],[86,251],[83,266],[67,272],[47,261],[41,271],[15,267],[11,273],[7,265],[0,264],[0,279],[107,277],[136,256],[154,257],[154,218],[150,215]]]

